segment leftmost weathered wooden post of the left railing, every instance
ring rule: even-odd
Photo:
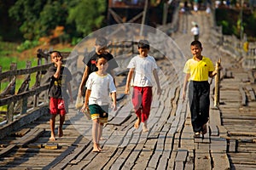
[[[15,71],[17,70],[17,63],[11,63],[10,65],[10,71]],[[16,76],[15,77],[9,77],[9,82],[13,82],[10,92],[10,95],[15,95],[15,84],[16,84]],[[6,115],[6,120],[7,123],[11,123],[14,121],[14,107],[15,107],[15,102],[10,102],[9,105],[7,105],[7,115]]]

